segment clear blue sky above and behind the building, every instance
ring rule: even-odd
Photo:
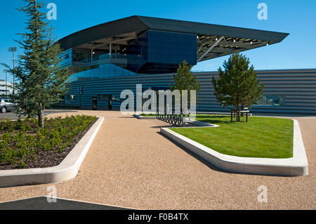
[[[57,20],[51,20],[58,39],[103,22],[145,15],[159,18],[206,22],[252,29],[265,29],[290,33],[279,44],[245,51],[257,70],[316,67],[316,1],[315,0],[39,0],[57,5]],[[268,6],[268,20],[258,20],[259,3]],[[0,62],[12,65],[8,47],[18,46],[18,32],[25,29],[25,15],[15,8],[23,6],[22,0],[0,3]],[[43,8],[46,13],[48,9]],[[21,53],[21,51],[18,51]],[[223,65],[228,56],[199,62],[192,70],[214,71]],[[4,79],[0,67],[0,79]],[[8,80],[12,80],[8,76]]]

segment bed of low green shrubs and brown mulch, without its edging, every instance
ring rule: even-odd
[[[57,166],[97,118],[86,115],[0,122],[0,170]]]

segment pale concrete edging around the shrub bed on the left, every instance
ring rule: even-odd
[[[79,140],[79,143],[67,154],[58,166],[34,169],[13,169],[0,171],[0,187],[17,185],[34,185],[44,183],[57,183],[70,180],[77,176],[81,163],[86,157],[96,134],[98,133],[104,117],[98,117],[91,129]]]

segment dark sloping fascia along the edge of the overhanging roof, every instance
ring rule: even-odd
[[[213,25],[202,22],[187,22],[183,20],[169,20],[133,15],[128,18],[105,22],[94,27],[83,29],[60,39],[58,43],[61,45],[62,49],[67,49],[98,39],[147,29],[258,39],[271,42],[280,42],[289,35],[282,32],[270,32],[258,29]]]

